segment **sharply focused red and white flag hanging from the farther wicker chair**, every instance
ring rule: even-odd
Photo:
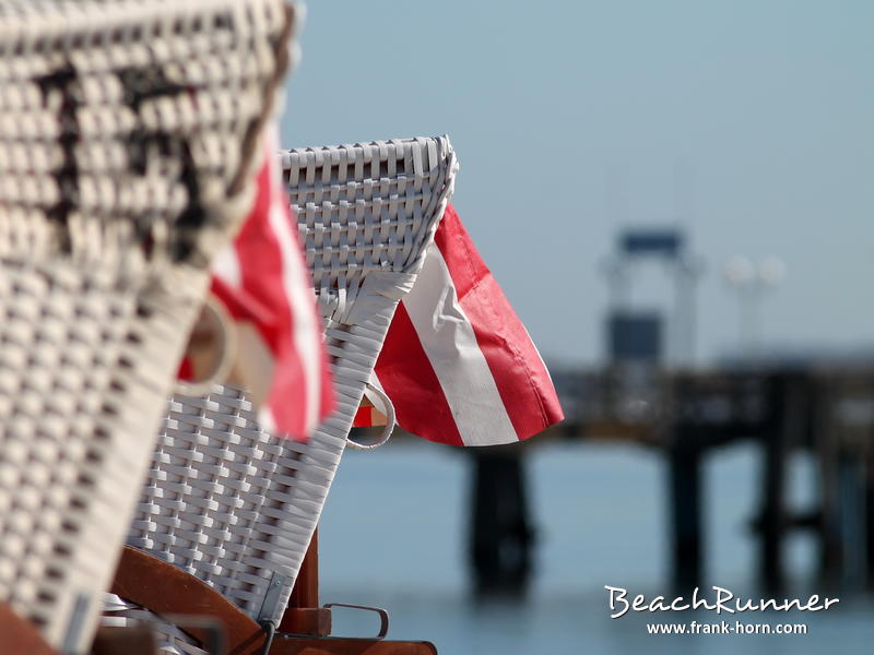
[[[401,427],[432,441],[508,443],[564,418],[538,349],[451,205],[375,378]]]

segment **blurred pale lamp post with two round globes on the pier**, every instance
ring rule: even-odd
[[[739,331],[749,359],[759,356],[761,299],[786,277],[786,264],[777,257],[754,262],[748,257],[733,257],[725,264],[725,282],[737,294]]]

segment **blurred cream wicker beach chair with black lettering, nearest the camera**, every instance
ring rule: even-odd
[[[91,643],[291,24],[0,0],[0,602],[55,648]]]

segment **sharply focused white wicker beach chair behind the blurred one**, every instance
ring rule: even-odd
[[[446,138],[293,150],[281,158],[326,321],[336,410],[297,443],[261,430],[232,388],[174,397],[128,538],[268,627],[287,605],[389,322],[422,266],[457,170]],[[145,595],[150,609],[180,609],[174,598]],[[232,652],[252,644],[251,634],[231,635]]]

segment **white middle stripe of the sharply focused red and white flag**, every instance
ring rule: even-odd
[[[415,293],[404,299],[404,307],[464,444],[511,441],[516,429],[436,245],[428,249]]]

